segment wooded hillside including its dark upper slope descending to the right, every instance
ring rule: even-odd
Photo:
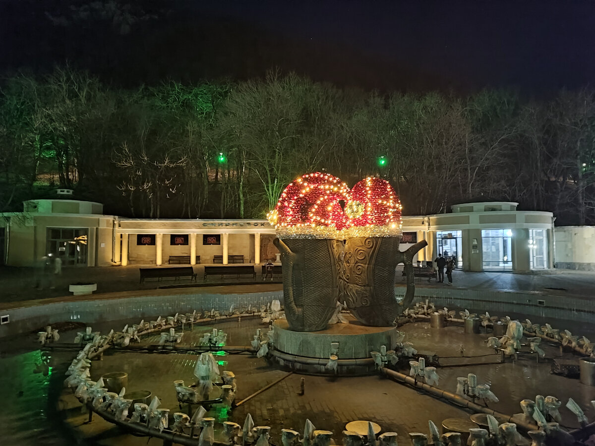
[[[328,171],[387,178],[408,215],[510,200],[595,224],[584,82],[474,83],[167,2],[42,3],[2,4],[0,211],[65,187],[122,216],[261,218]]]

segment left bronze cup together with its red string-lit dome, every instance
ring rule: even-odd
[[[318,331],[336,308],[338,231],[349,224],[340,202],[349,188],[329,174],[297,178],[281,194],[270,221],[283,264],[284,307],[289,329]],[[281,240],[280,240],[281,239]]]

